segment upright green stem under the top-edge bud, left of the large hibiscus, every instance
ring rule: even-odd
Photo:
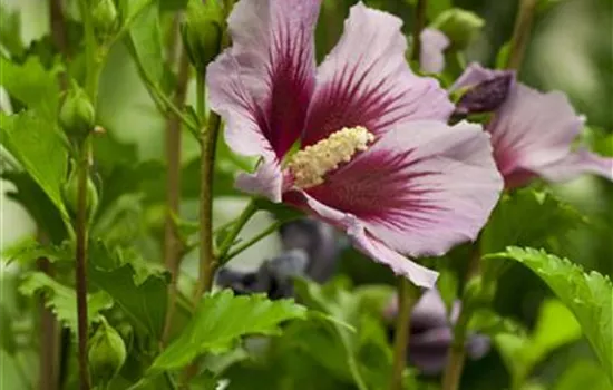
[[[197,114],[204,118],[204,74],[197,75]],[[200,272],[198,281],[194,293],[194,305],[205,291],[213,286],[213,276],[217,267],[213,247],[213,182],[215,170],[215,147],[220,133],[221,118],[217,114],[211,113],[206,128],[201,131],[201,193],[200,193]]]

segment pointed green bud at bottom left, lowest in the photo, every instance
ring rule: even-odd
[[[119,372],[126,361],[124,339],[104,319],[89,340],[88,359],[95,383],[104,384]]]

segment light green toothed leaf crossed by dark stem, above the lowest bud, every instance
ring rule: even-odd
[[[26,276],[19,292],[32,296],[43,293],[47,308],[72,332],[77,333],[77,294],[74,289],[49,277],[42,272],[33,272]],[[89,323],[100,321],[100,311],[110,309],[113,299],[105,292],[87,295],[87,318]]]

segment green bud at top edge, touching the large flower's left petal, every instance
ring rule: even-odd
[[[189,61],[198,70],[215,59],[221,49],[223,12],[217,0],[189,0],[185,11],[185,21],[181,26],[183,45]]]

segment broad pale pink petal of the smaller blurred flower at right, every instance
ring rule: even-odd
[[[542,169],[566,159],[582,124],[564,94],[542,94],[517,84],[486,128],[507,186],[517,183],[513,176],[542,175]]]

